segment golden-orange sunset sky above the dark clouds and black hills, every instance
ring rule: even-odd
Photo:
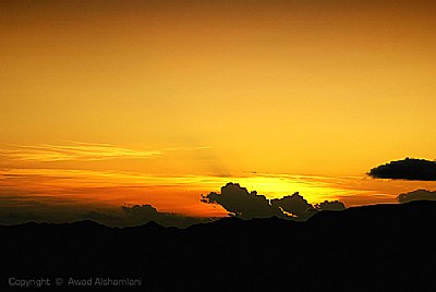
[[[199,202],[229,181],[310,203],[395,203],[435,182],[433,1],[1,1],[0,200]]]

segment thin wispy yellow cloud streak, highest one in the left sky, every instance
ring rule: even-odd
[[[0,145],[0,155],[20,161],[96,161],[119,158],[158,158],[170,149],[140,150],[110,144],[74,142],[68,145]]]

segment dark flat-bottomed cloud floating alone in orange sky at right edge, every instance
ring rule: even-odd
[[[376,179],[436,181],[436,161],[405,158],[373,168],[368,175]]]

